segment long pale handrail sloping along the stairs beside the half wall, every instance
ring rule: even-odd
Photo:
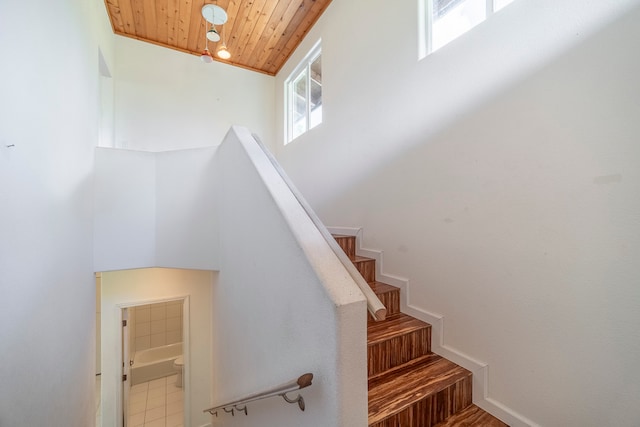
[[[344,265],[344,267],[347,269],[347,272],[349,273],[351,278],[353,278],[354,282],[356,282],[356,284],[358,285],[358,287],[360,288],[360,290],[364,294],[364,297],[367,300],[367,310],[369,311],[369,313],[371,313],[371,316],[373,316],[373,319],[376,321],[384,320],[387,317],[387,308],[384,306],[384,304],[382,304],[382,301],[380,301],[380,298],[378,298],[378,296],[375,294],[375,292],[373,292],[369,284],[364,280],[364,278],[362,277],[358,269],[353,265],[349,257],[344,253],[342,248],[338,245],[338,243],[333,238],[329,230],[327,230],[327,228],[324,226],[322,221],[320,221],[320,218],[318,218],[318,216],[313,211],[313,209],[311,209],[311,206],[309,205],[309,203],[307,203],[305,198],[302,196],[302,193],[300,193],[300,191],[298,191],[295,185],[293,185],[293,182],[291,181],[291,179],[289,179],[289,177],[287,176],[285,171],[282,169],[280,164],[269,152],[269,150],[266,149],[266,147],[264,146],[264,144],[262,143],[258,135],[253,134],[253,139],[255,139],[255,141],[258,143],[258,146],[267,155],[267,158],[269,159],[273,167],[276,169],[278,174],[282,177],[285,184],[287,184],[287,186],[293,193],[293,196],[296,198],[296,200],[298,200],[298,203],[300,203],[300,206],[302,206],[302,208],[305,210],[305,212],[307,213],[311,221],[314,223],[316,228],[320,231],[320,234],[322,235],[322,237],[324,237],[326,242],[329,244],[329,247],[336,254],[336,256],[338,257],[342,265]]]

